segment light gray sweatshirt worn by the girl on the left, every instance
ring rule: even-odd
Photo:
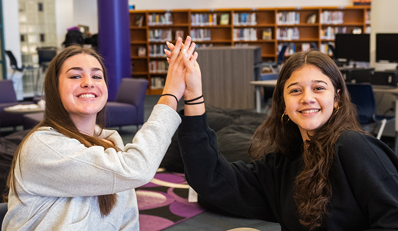
[[[134,188],[148,183],[181,122],[169,106],[155,105],[131,144],[116,131],[100,138],[122,151],[86,148],[49,127],[28,137],[16,163],[2,230],[139,230]],[[22,174],[21,174],[22,173]],[[117,204],[101,217],[97,195],[117,193]]]

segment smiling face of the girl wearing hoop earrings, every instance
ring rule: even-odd
[[[305,65],[295,70],[283,88],[285,115],[296,123],[303,140],[323,126],[337,108],[335,90],[329,77],[317,67]]]

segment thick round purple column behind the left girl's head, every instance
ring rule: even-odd
[[[127,0],[98,0],[98,46],[108,76],[108,100],[116,99],[122,78],[131,78]]]

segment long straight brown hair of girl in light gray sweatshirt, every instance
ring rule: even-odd
[[[97,123],[99,124],[101,130],[99,133],[94,134],[94,136],[85,135],[79,132],[77,127],[74,125],[72,119],[70,118],[68,112],[65,110],[59,92],[59,76],[61,73],[62,65],[65,60],[69,57],[79,55],[79,54],[87,54],[96,58],[100,64],[102,69],[104,70],[104,80],[107,82],[105,66],[102,61],[102,58],[97,54],[97,52],[91,48],[86,48],[79,45],[72,45],[65,48],[58,55],[56,55],[50,65],[48,66],[46,77],[44,80],[44,93],[46,97],[46,109],[44,112],[44,119],[34,127],[28,135],[22,140],[21,144],[16,149],[10,173],[8,175],[7,186],[14,191],[18,200],[21,199],[18,197],[18,193],[16,191],[15,185],[15,165],[18,161],[19,166],[21,167],[20,155],[21,149],[24,145],[27,137],[29,137],[33,132],[35,132],[40,127],[51,127],[61,134],[79,140],[85,147],[91,146],[102,146],[106,148],[115,148],[119,150],[116,146],[108,144],[102,139],[97,138],[101,132],[102,128],[105,125],[105,109],[103,108],[100,112],[97,113]],[[117,195],[116,194],[108,194],[97,196],[98,204],[101,211],[101,216],[105,217],[109,215],[110,211],[115,207],[117,203]],[[23,203],[21,201],[21,203]]]

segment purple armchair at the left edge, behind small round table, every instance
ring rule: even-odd
[[[10,114],[4,108],[17,104],[30,104],[34,102],[18,102],[12,80],[0,80],[0,128],[16,127],[23,125],[23,114]]]

